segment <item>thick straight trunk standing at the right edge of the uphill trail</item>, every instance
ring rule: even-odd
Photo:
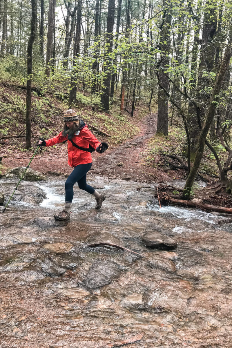
[[[169,66],[169,58],[167,57],[170,52],[170,26],[171,26],[171,5],[167,0],[163,0],[163,22],[160,33],[160,70],[159,80],[162,86],[169,90],[168,73],[165,73],[165,69]],[[168,97],[166,93],[159,88],[158,92],[158,118],[157,118],[157,135],[168,135]]]

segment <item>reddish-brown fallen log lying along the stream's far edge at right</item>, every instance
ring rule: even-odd
[[[195,202],[192,202],[191,200],[175,199],[170,196],[162,197],[161,201],[162,203],[170,202],[172,204],[186,206],[188,208],[200,208],[202,210],[208,210],[208,211],[224,213],[224,214],[232,214],[232,208],[217,207],[215,205],[206,204],[206,203],[195,203]]]

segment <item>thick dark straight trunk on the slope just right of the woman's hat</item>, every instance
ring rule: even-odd
[[[115,11],[115,0],[109,0],[109,6],[108,6],[108,14],[107,14],[107,33],[106,43],[109,45],[106,49],[106,54],[109,56],[106,56],[106,65],[105,68],[107,69],[106,77],[103,80],[103,88],[101,95],[101,103],[105,111],[108,111],[110,108],[110,81],[111,81],[111,72],[112,72],[112,61],[110,58],[110,54],[113,50],[113,30],[114,30],[114,11]]]

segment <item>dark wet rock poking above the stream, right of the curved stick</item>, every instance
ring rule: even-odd
[[[142,242],[147,248],[174,249],[177,246],[175,240],[165,235],[161,235],[157,231],[146,233],[142,237]]]

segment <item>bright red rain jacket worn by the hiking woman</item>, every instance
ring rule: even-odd
[[[88,129],[88,126],[85,124],[81,129],[77,131],[78,135],[72,137],[72,141],[82,148],[89,148],[89,144],[96,150],[100,145],[99,141],[92,132]],[[59,133],[54,138],[46,140],[46,146],[52,146],[58,143],[62,143],[67,140],[68,137],[63,136],[62,132]],[[75,167],[78,164],[87,164],[92,163],[91,153],[83,150],[77,149],[72,145],[71,141],[68,140],[68,164],[71,167]]]

